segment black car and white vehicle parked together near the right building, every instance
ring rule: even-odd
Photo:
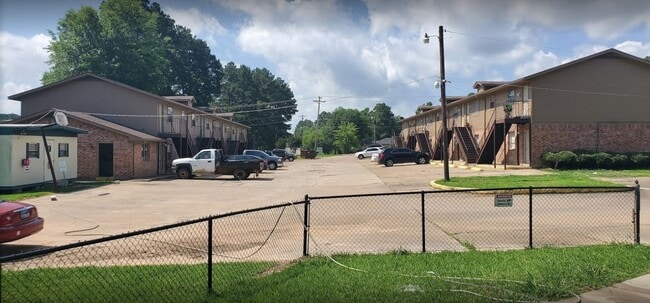
[[[373,162],[377,161],[378,164],[383,164],[388,167],[398,163],[426,164],[431,161],[429,154],[407,147],[368,147],[356,152],[354,156],[360,160],[371,157]]]

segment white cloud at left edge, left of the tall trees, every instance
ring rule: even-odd
[[[31,38],[0,32],[0,112],[20,114],[20,103],[8,96],[40,86],[47,70],[45,47],[50,38],[38,34]]]

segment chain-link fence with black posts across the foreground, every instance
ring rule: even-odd
[[[308,255],[639,243],[639,208],[638,186],[305,196],[0,257],[0,299],[204,301],[206,290]]]

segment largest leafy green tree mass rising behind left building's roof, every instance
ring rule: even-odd
[[[70,10],[50,35],[43,84],[92,72],[158,95],[193,95],[199,105],[219,95],[221,63],[155,2],[106,0],[99,10]]]

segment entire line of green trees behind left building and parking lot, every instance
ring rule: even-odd
[[[265,68],[225,66],[207,43],[176,24],[156,2],[106,0],[69,10],[50,31],[44,85],[91,72],[160,96],[194,96],[198,106],[234,113],[261,149],[322,146],[349,152],[399,131],[390,107],[337,108],[316,121],[290,121],[297,102],[289,85]]]

